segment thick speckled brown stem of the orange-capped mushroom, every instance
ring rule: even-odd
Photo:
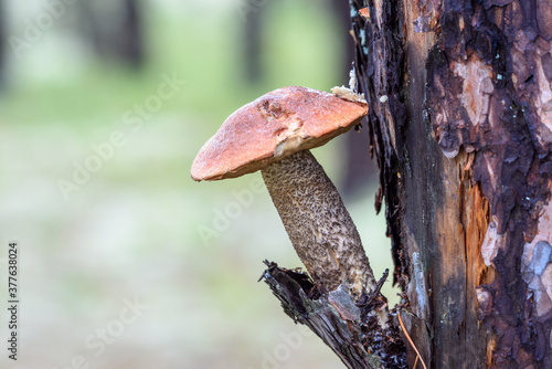
[[[262,170],[295,251],[328,291],[341,284],[355,295],[375,286],[359,232],[336,187],[309,150]]]

